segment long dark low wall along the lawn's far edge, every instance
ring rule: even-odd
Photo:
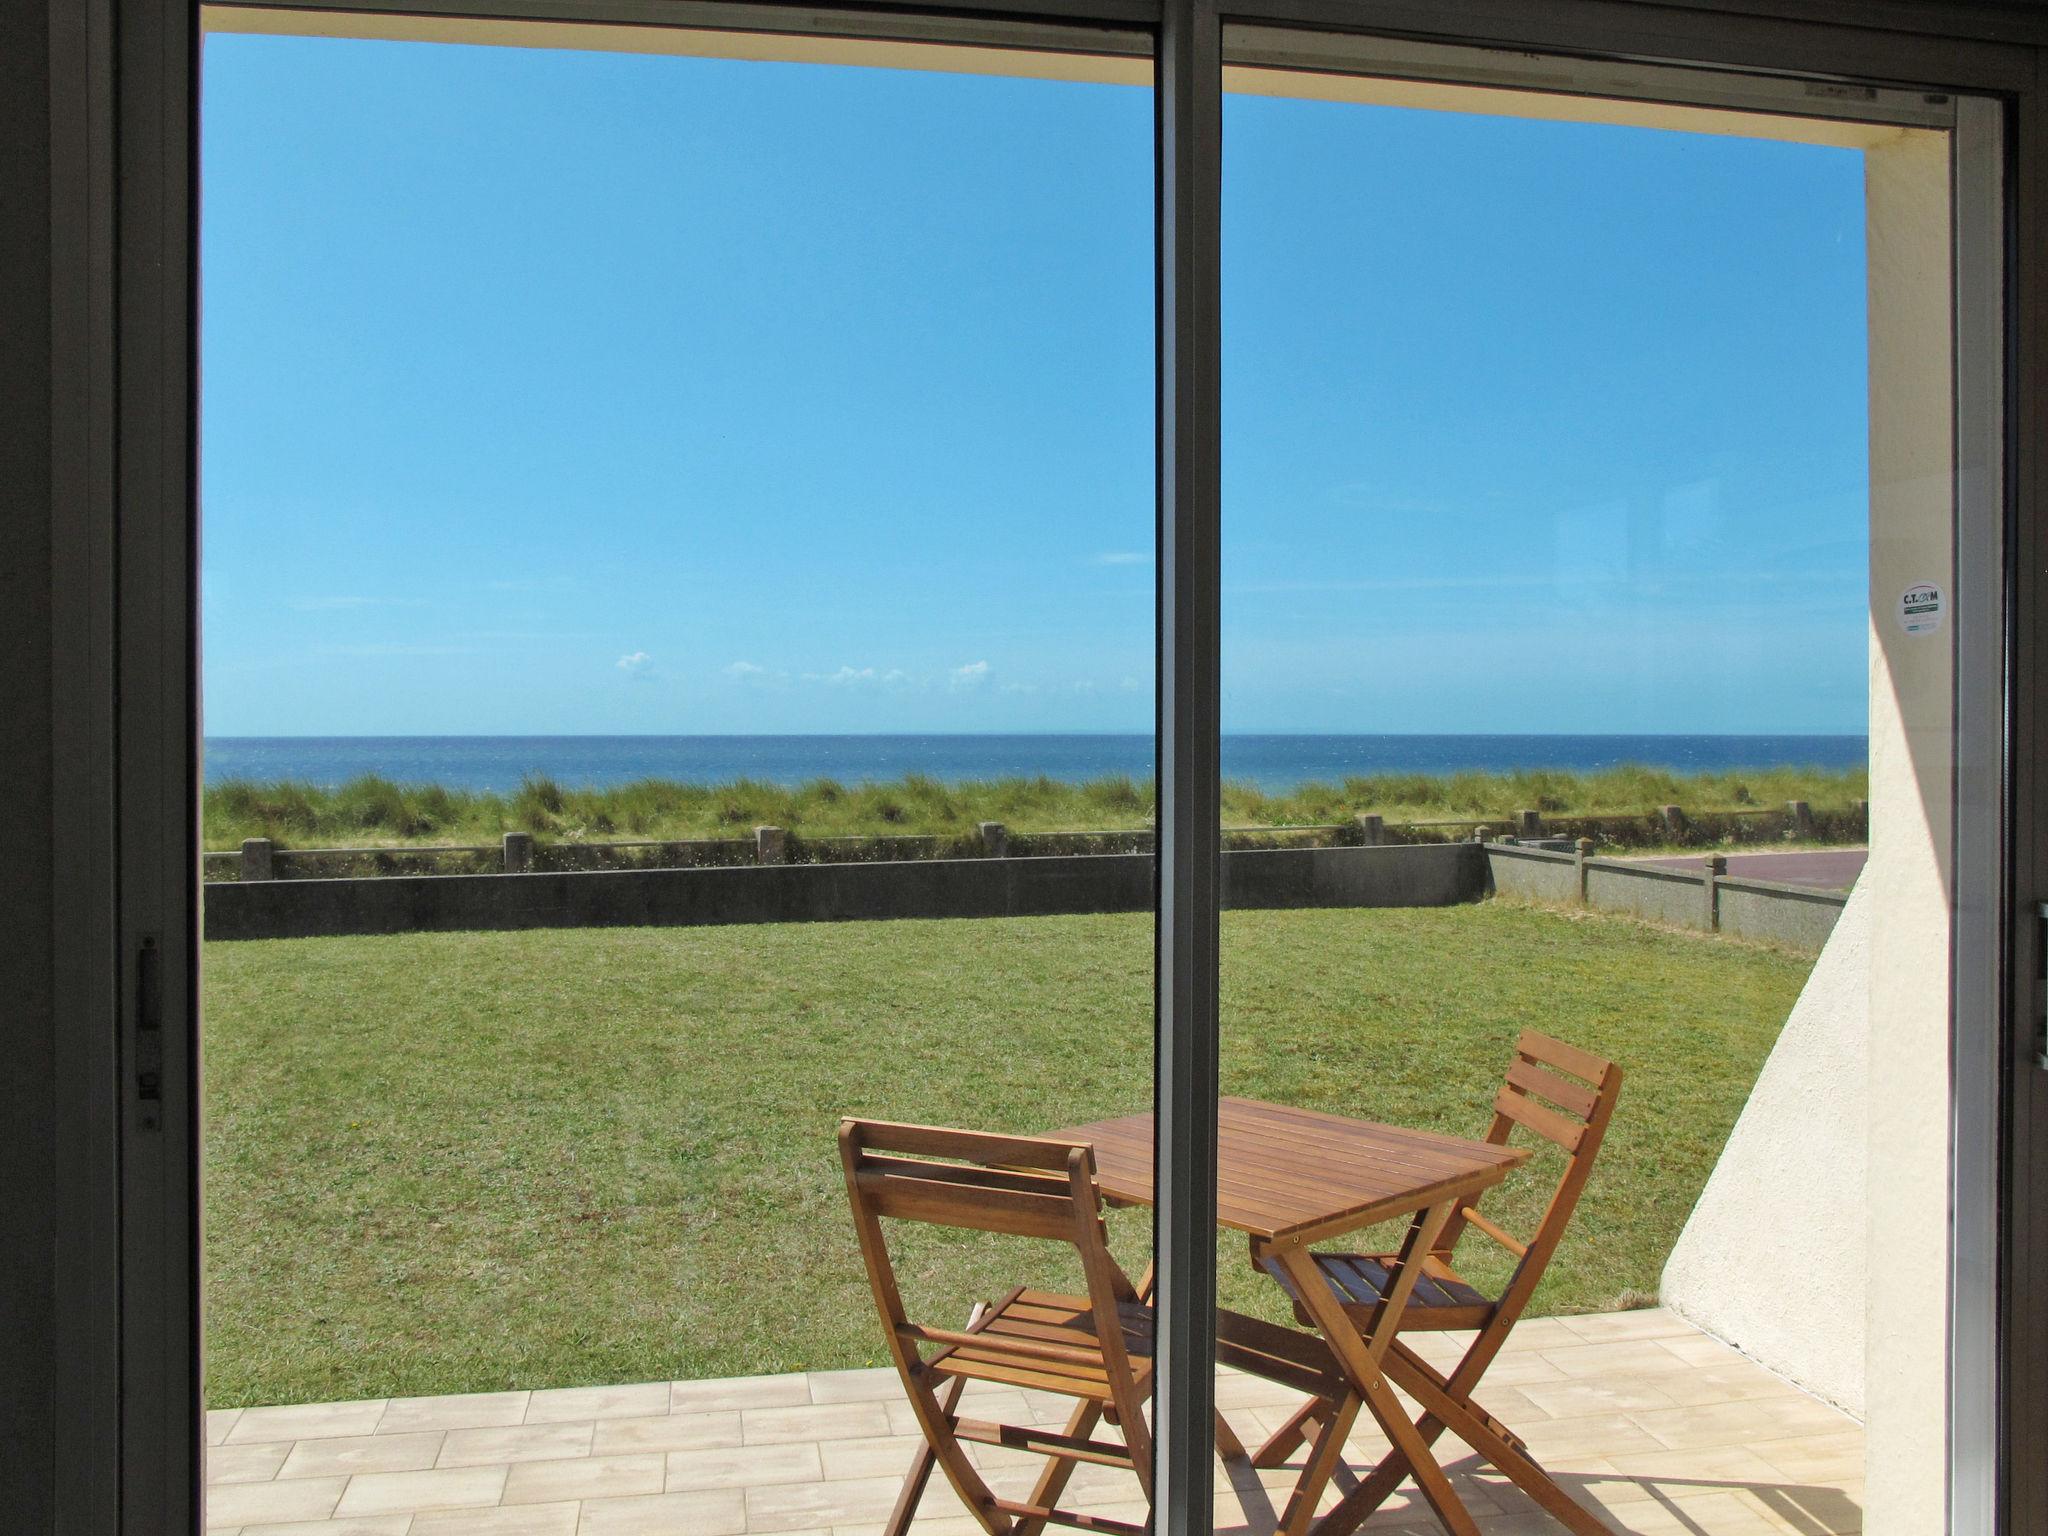
[[[1231,907],[1440,907],[1477,901],[1485,885],[1479,844],[1276,848],[1223,856]],[[387,874],[205,887],[207,938],[1042,918],[1151,907],[1151,854]]]

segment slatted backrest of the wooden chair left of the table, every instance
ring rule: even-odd
[[[1038,1237],[1067,1243],[1079,1253],[1102,1366],[1126,1425],[1133,1421],[1128,1415],[1141,1411],[1141,1395],[1124,1343],[1124,1323],[1126,1309],[1141,1303],[1137,1286],[1110,1255],[1094,1147],[848,1118],[840,1122],[840,1159],[846,1165],[860,1257],[905,1382],[922,1372],[920,1346],[926,1343],[942,1350],[965,1343],[981,1358],[1012,1360],[1018,1370],[1036,1372],[1071,1366],[1073,1348],[1008,1335],[969,1335],[956,1327],[911,1319],[897,1288],[883,1221]]]

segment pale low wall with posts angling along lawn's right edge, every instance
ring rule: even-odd
[[[1815,952],[1827,944],[1849,899],[1843,891],[1724,874],[1710,858],[1690,870],[1495,842],[1485,846],[1485,860],[1487,889],[1499,895],[1585,903]]]

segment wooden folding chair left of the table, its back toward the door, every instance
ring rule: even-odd
[[[1151,1499],[1145,1407],[1153,1380],[1153,1309],[1110,1255],[1094,1149],[1085,1143],[848,1118],[840,1122],[840,1157],[889,1354],[924,1432],[924,1446],[883,1526],[885,1536],[909,1530],[934,1466],[946,1473],[961,1503],[989,1532],[1036,1536],[1047,1524],[1057,1524],[1106,1536],[1143,1536],[1149,1522],[1059,1507],[1067,1479],[1081,1462],[1128,1466]],[[993,1305],[977,1305],[965,1327],[918,1323],[903,1309],[883,1221],[1071,1245],[1081,1257],[1087,1294],[1018,1286]],[[1321,1339],[1257,1319],[1225,1313],[1217,1354],[1225,1364],[1296,1391],[1329,1397],[1343,1386]],[[1075,1399],[1075,1407],[1059,1432],[961,1417],[961,1393],[971,1380],[1059,1393]],[[1094,1438],[1102,1421],[1122,1432],[1122,1444]],[[1036,1452],[1047,1466],[1028,1499],[1004,1499],[981,1479],[961,1442]],[[1235,1446],[1235,1438],[1229,1444]]]

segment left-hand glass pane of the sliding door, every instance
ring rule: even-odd
[[[877,1526],[840,1118],[1151,1106],[1151,63],[391,25],[205,49],[213,1522]]]

